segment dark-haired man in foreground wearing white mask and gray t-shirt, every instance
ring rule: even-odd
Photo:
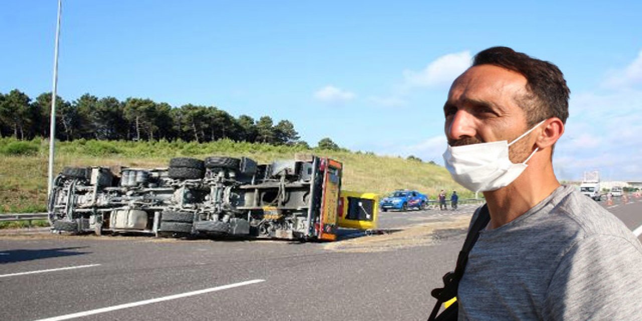
[[[555,65],[505,47],[478,53],[451,86],[446,168],[490,213],[459,284],[460,320],[642,318],[638,239],[553,173],[568,98]]]

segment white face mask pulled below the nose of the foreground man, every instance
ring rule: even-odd
[[[455,182],[474,192],[495,191],[508,186],[528,167],[526,162],[535,155],[537,148],[523,163],[513,164],[508,158],[508,146],[530,134],[537,126],[517,137],[510,144],[508,141],[470,144],[465,146],[448,146],[444,153],[446,169]]]

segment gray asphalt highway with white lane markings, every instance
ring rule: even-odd
[[[633,230],[631,201],[608,209]],[[382,213],[399,232],[339,243],[0,238],[0,320],[422,320],[472,209]]]

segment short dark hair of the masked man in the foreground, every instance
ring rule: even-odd
[[[526,112],[528,126],[557,117],[562,123],[568,118],[568,98],[571,91],[562,71],[550,62],[539,60],[508,47],[492,47],[474,56],[473,66],[496,65],[526,78],[526,96],[516,98]]]

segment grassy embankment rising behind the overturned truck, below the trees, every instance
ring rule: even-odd
[[[386,195],[394,189],[417,189],[434,200],[440,189],[469,197],[441,166],[384,157],[372,153],[306,150],[292,146],[236,143],[222,140],[214,143],[181,141],[129,142],[85,141],[56,143],[55,173],[63,166],[121,165],[141,168],[167,166],[171,157],[204,159],[211,155],[247,156],[258,162],[291,159],[294,153],[313,153],[343,162],[343,189]],[[0,213],[46,211],[48,141],[16,141],[0,138]]]

